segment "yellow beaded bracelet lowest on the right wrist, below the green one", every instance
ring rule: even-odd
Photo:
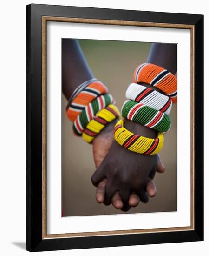
[[[164,137],[162,133],[157,138],[151,139],[131,133],[124,128],[124,120],[119,120],[114,129],[115,140],[124,148],[144,155],[155,155],[163,147]]]

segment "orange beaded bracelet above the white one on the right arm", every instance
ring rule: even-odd
[[[174,74],[163,67],[151,63],[141,64],[134,71],[133,81],[157,87],[170,96],[173,103],[177,102],[177,79]]]

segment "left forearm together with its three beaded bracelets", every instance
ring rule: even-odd
[[[93,74],[78,40],[63,39],[62,91],[68,100],[66,115],[73,122],[74,133],[82,136],[88,143],[91,143],[104,127],[109,130],[114,125],[114,122],[111,122],[119,116],[114,99],[108,94],[108,88],[102,81],[92,81],[92,78]],[[98,112],[100,119],[95,121],[93,116],[96,113],[98,115]]]

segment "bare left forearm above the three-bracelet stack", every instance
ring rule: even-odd
[[[73,91],[93,78],[76,39],[62,39],[62,91],[69,100]]]

